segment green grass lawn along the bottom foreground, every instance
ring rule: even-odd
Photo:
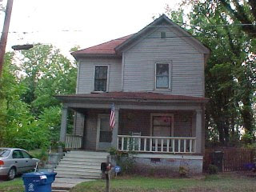
[[[1,182],[0,192],[23,192],[22,178],[14,181]],[[70,192],[103,192],[105,180],[83,182]],[[206,178],[146,178],[122,177],[111,180],[111,192],[253,192],[256,191],[256,178],[241,174],[226,173],[207,175]]]

